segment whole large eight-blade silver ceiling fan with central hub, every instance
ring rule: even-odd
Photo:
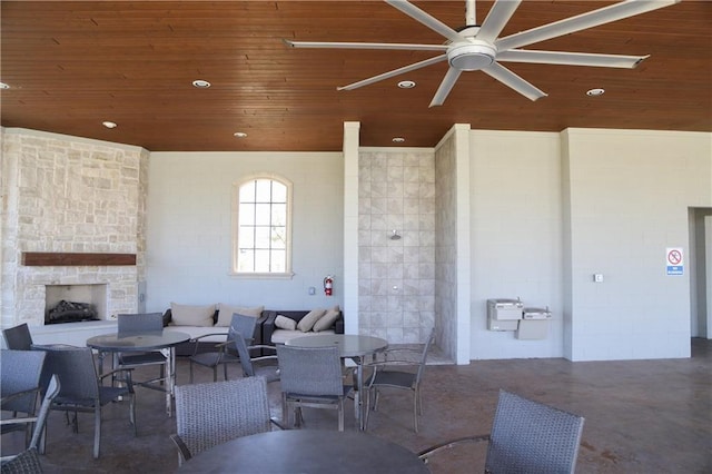
[[[627,0],[553,23],[498,38],[522,0],[496,0],[482,24],[475,21],[475,0],[465,0],[465,27],[454,30],[406,0],[384,0],[389,6],[423,23],[447,39],[443,45],[411,45],[387,42],[289,41],[293,48],[399,49],[439,51],[438,56],[359,80],[337,90],[353,90],[405,72],[447,60],[449,68],[429,107],[442,106],[463,71],[483,71],[511,87],[524,97],[536,100],[546,96],[532,83],[501,65],[501,62],[534,62],[543,65],[590,66],[603,68],[636,67],[647,56],[596,55],[566,51],[540,51],[521,47],[562,37],[564,34],[610,23],[679,3],[681,0]]]

